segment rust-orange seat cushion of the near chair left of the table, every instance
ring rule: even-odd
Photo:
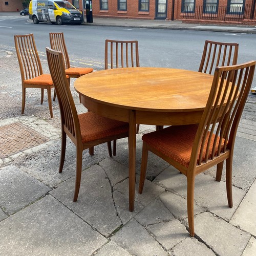
[[[93,112],[78,115],[82,143],[128,133],[129,123],[112,120]]]

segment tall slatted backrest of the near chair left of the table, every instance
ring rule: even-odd
[[[49,70],[59,102],[61,123],[70,132],[70,135],[73,136],[73,142],[75,142],[75,140],[81,141],[80,124],[75,102],[65,73],[62,53],[47,47],[46,54]]]

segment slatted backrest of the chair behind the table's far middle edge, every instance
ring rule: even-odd
[[[105,40],[105,69],[139,66],[138,41]]]

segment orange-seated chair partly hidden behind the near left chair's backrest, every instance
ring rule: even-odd
[[[51,48],[55,51],[62,52],[62,55],[64,57],[64,62],[65,62],[65,67],[66,67],[66,74],[69,77],[73,78],[78,78],[82,75],[89,74],[93,72],[93,68],[78,68],[78,67],[70,67],[70,60],[69,60],[69,55],[67,51],[67,47],[65,44],[65,38],[64,38],[64,33],[49,33],[50,36],[50,45]],[[70,84],[70,78],[69,78],[69,84]],[[55,100],[55,98],[53,98]],[[81,103],[81,97],[79,95],[79,100]]]

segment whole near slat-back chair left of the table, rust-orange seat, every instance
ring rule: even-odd
[[[66,78],[62,52],[46,48],[49,70],[58,97],[61,117],[61,153],[59,173],[62,172],[67,135],[76,146],[76,181],[74,202],[77,201],[82,171],[82,152],[104,142],[129,136],[129,124],[99,116],[93,112],[77,114],[69,82]]]

